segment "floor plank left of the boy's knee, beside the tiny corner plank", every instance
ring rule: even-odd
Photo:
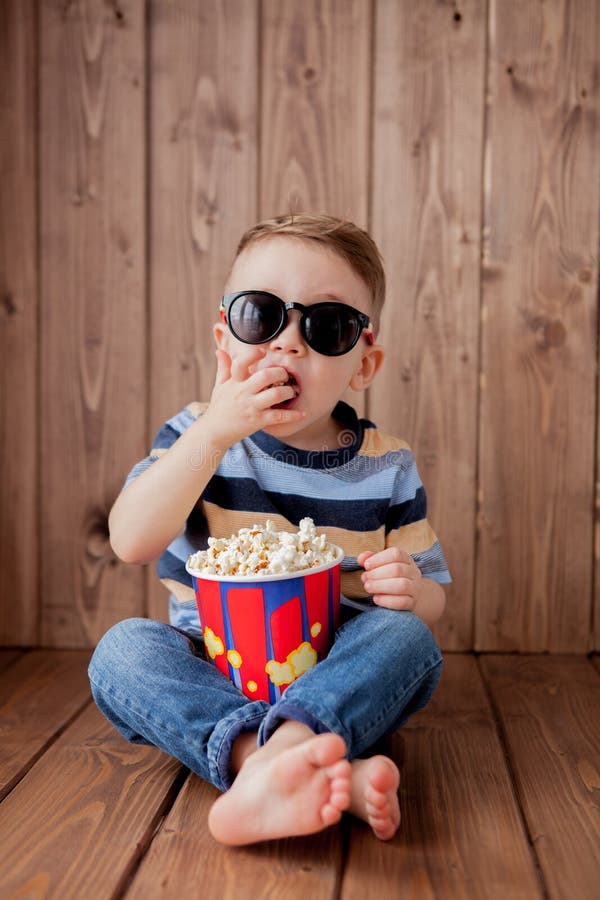
[[[88,651],[33,650],[0,681],[0,798],[88,702]],[[0,841],[1,843],[1,841]]]

